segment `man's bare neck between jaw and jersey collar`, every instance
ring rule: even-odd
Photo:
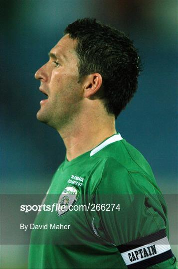
[[[87,121],[86,121],[87,119]],[[80,117],[58,130],[65,147],[66,157],[70,161],[79,155],[93,149],[107,137],[116,134],[115,118],[111,115],[104,117]]]

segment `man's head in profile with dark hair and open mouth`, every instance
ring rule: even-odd
[[[58,129],[82,113],[86,104],[90,113],[90,106],[95,110],[95,100],[117,118],[138,84],[140,61],[132,41],[89,18],[69,24],[64,34],[35,74],[48,96],[40,102],[37,119]]]

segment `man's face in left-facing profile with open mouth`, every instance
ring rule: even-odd
[[[40,91],[47,94],[40,102],[37,119],[59,129],[80,110],[82,87],[78,83],[76,40],[62,37],[49,52],[49,61],[35,74]]]

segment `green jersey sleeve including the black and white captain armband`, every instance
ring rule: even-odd
[[[95,234],[118,248],[128,268],[176,268],[167,206],[152,178],[108,160],[93,201],[100,209],[93,218]]]

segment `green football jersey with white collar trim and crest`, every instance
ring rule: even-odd
[[[29,269],[174,269],[167,206],[120,134],[59,166],[31,231]]]

